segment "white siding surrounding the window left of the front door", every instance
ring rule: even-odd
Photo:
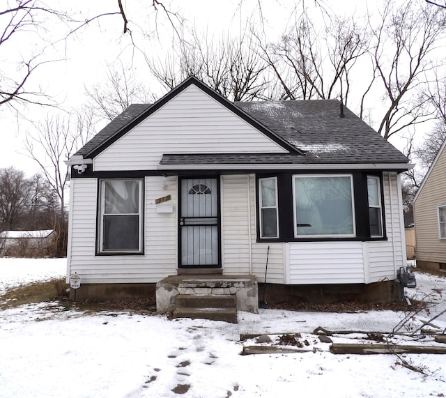
[[[163,184],[167,186],[164,189]],[[145,179],[145,254],[95,256],[98,180],[72,180],[76,194],[71,208],[71,249],[69,273],[85,283],[151,283],[176,273],[176,178]],[[156,205],[157,197],[171,194],[171,201]],[[158,213],[157,206],[174,206],[173,213]]]

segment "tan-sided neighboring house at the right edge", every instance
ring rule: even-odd
[[[413,199],[417,266],[446,270],[446,141]]]

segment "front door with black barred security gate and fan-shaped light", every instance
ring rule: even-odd
[[[217,178],[180,180],[180,268],[218,268]]]

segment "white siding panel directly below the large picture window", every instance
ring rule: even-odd
[[[293,242],[290,284],[364,283],[362,242]]]

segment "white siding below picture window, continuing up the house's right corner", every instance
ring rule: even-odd
[[[398,176],[383,176],[387,240],[290,243],[290,284],[373,283],[393,280],[406,265]]]

